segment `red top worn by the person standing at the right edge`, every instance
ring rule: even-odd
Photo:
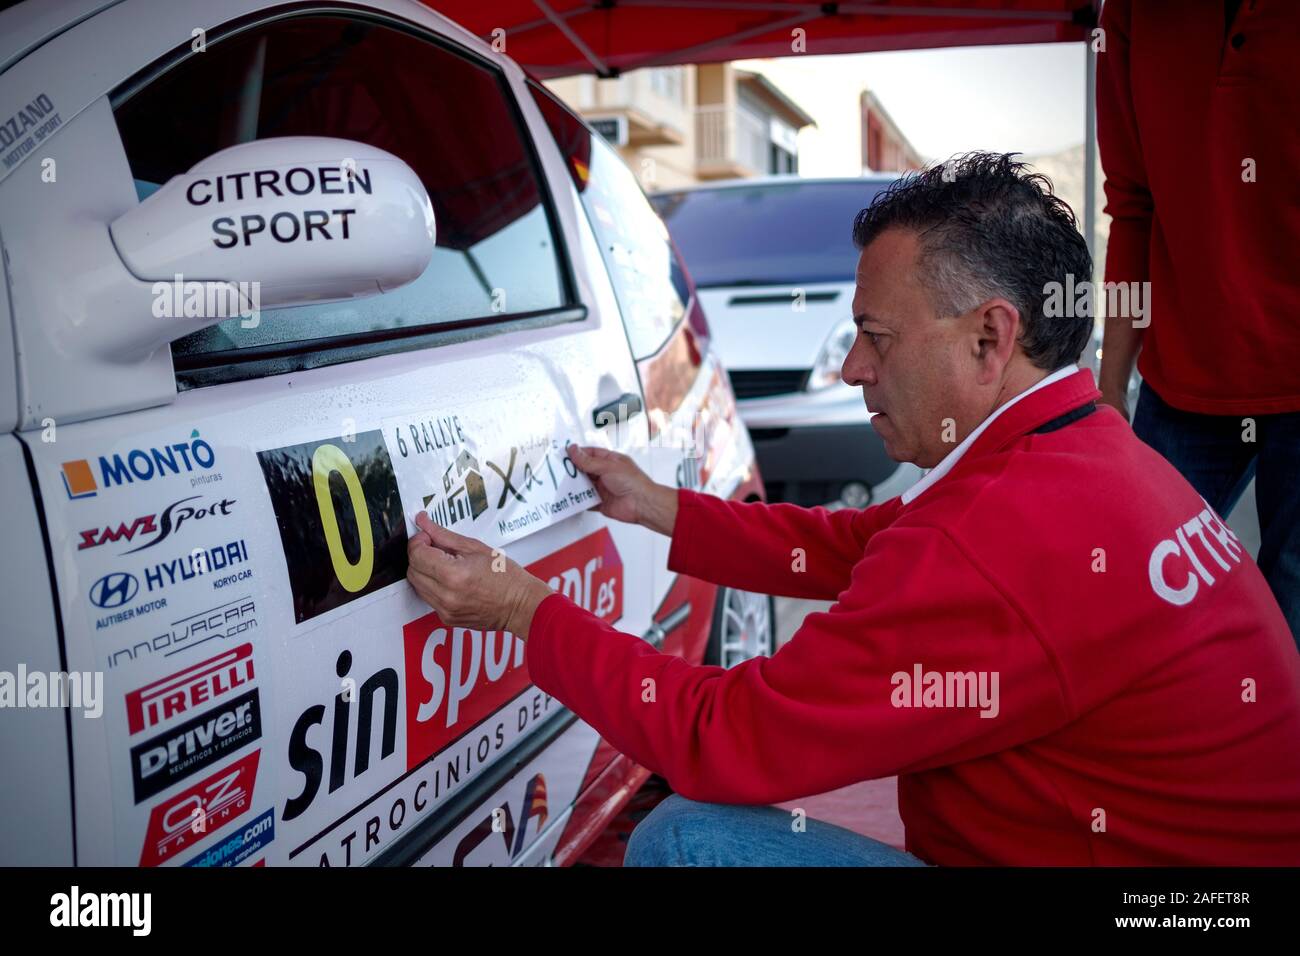
[[[1187,411],[1300,410],[1300,4],[1225,29],[1222,0],[1106,0],[1101,26],[1105,277],[1152,284],[1139,371]]]

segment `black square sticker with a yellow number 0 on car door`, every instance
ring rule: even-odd
[[[298,623],[406,579],[407,529],[380,432],[259,451]]]

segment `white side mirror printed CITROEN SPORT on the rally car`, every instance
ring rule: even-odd
[[[415,170],[384,150],[326,137],[221,150],[109,232],[122,264],[155,295],[147,313],[124,317],[118,354],[250,311],[391,291],[425,271],[436,246],[433,204]],[[195,284],[203,295],[192,295]]]

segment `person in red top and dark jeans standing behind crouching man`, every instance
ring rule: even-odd
[[[1136,360],[1143,441],[1222,515],[1254,477],[1300,644],[1300,4],[1106,0],[1101,27],[1105,278],[1145,302],[1106,316],[1101,401],[1128,416]]]

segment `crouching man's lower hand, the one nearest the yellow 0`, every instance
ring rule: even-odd
[[[503,551],[433,523],[422,511],[407,541],[407,580],[443,623],[528,637],[537,605],[551,593]]]

